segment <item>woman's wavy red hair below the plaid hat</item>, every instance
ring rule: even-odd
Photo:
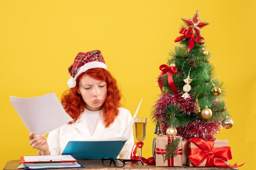
[[[81,73],[76,78],[76,87],[70,88],[70,90],[67,90],[61,96],[61,104],[70,117],[74,119],[70,124],[76,122],[85,108],[85,102],[83,101],[81,94],[77,92],[79,89],[79,81],[83,75],[88,75],[107,83],[107,97],[102,105],[102,109],[105,117],[105,127],[108,127],[114,122],[119,113],[118,107],[121,106],[121,92],[117,87],[115,78],[113,78],[110,72],[104,68],[91,68]]]

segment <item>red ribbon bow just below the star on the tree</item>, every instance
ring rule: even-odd
[[[203,38],[203,37],[195,37],[194,34],[189,33],[189,31],[187,31],[185,28],[181,28],[180,33],[183,34],[183,35],[180,36],[180,37],[177,37],[177,38],[174,40],[174,42],[179,42],[179,41],[181,41],[181,40],[183,40],[183,39],[185,39],[185,38],[190,38],[190,40],[189,40],[189,46],[188,46],[188,52],[189,52],[192,48],[194,48],[195,42],[196,42],[197,44],[204,44],[204,38]],[[203,42],[200,42],[200,41],[199,41],[200,39],[202,39]]]

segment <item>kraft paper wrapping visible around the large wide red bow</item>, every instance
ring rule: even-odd
[[[203,139],[201,139],[201,140],[203,140]],[[214,140],[213,149],[221,148],[221,147],[224,147],[224,146],[228,146],[228,140]],[[186,148],[186,155],[187,155],[187,158],[188,158],[187,159],[187,165],[190,166],[190,167],[193,167],[194,164],[189,159],[189,155],[191,153],[191,151],[189,151],[189,150],[191,150],[191,149],[193,150],[193,148],[199,148],[199,147],[195,143],[193,143],[193,142],[188,142],[186,147],[187,147]],[[192,152],[195,153],[195,151],[192,151]],[[204,161],[201,164],[199,164],[198,166],[206,166],[206,162],[207,162],[207,159],[204,159]],[[223,162],[228,164],[227,160],[223,160]]]

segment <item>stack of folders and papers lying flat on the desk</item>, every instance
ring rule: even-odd
[[[25,170],[57,169],[57,168],[84,168],[71,155],[42,155],[20,157],[20,166]]]

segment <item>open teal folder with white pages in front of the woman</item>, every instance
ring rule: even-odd
[[[122,137],[101,140],[69,141],[62,155],[72,155],[76,159],[116,158],[130,135],[134,118],[137,116],[141,102],[142,99]]]

